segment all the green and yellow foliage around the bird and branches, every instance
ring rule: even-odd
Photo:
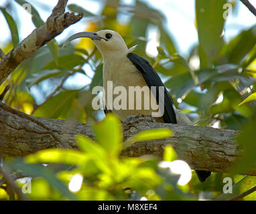
[[[26,3],[15,1],[19,5]],[[42,25],[36,3],[28,3],[35,5],[31,8],[31,20],[35,27]],[[242,31],[231,41],[225,41],[221,36],[225,29],[225,19],[222,18],[225,3],[226,0],[196,0],[198,44],[190,50],[188,58],[177,53],[176,43],[164,25],[164,15],[143,1],[135,1],[132,9],[121,1],[101,1],[103,9],[97,15],[74,4],[68,5],[68,9],[83,11],[86,29],[81,31],[113,29],[121,33],[129,47],[138,44],[135,53],[146,58],[164,77],[170,94],[175,102],[179,101],[176,105],[190,112],[196,125],[218,124],[219,128],[243,130],[239,142],[249,149],[245,149],[243,164],[237,165],[237,169],[242,169],[255,163],[256,25]],[[10,5],[13,2],[9,7],[1,7],[11,31],[10,42],[2,48],[5,53],[19,42],[17,17],[13,16]],[[127,11],[129,22],[120,22],[119,15]],[[152,27],[160,33],[156,58],[145,55],[145,37]],[[5,103],[34,116],[79,122],[90,118],[100,120],[103,112],[95,112],[90,104],[92,88],[102,84],[101,54],[89,39],[80,39],[74,45],[61,47],[62,43],[54,39],[19,66],[0,86],[0,92],[7,84],[11,86]],[[200,62],[198,68],[193,66],[196,60]],[[89,75],[88,68],[94,72],[93,76]],[[90,81],[80,88],[70,86],[68,80],[78,75]],[[97,142],[78,136],[80,150],[42,150],[23,160],[7,161],[7,166],[13,171],[22,170],[33,177],[31,199],[115,200],[144,196],[152,200],[180,200],[198,199],[199,193],[205,192],[210,192],[209,198],[214,199],[222,193],[222,181],[227,176],[236,183],[232,197],[255,186],[254,177],[237,179],[239,176],[235,175],[234,169],[232,175],[212,173],[203,184],[193,173],[190,183],[179,187],[176,185],[177,177],[157,167],[159,160],[119,156],[123,148],[121,127],[114,116],[95,123],[93,128]],[[144,133],[129,139],[124,147],[145,138],[165,137],[168,134],[171,133],[166,130]],[[175,159],[170,148],[165,155],[167,160]],[[49,165],[44,167],[41,163]],[[68,184],[74,175],[81,175],[83,182],[80,191],[71,193]],[[8,199],[1,188],[0,198]],[[220,195],[216,199],[231,197]],[[255,194],[244,199],[255,200]]]

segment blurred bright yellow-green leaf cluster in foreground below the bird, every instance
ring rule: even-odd
[[[93,128],[97,142],[86,136],[77,136],[80,150],[40,150],[22,160],[9,160],[6,165],[13,171],[22,170],[33,177],[29,197],[34,200],[125,200],[140,199],[142,196],[150,200],[194,198],[177,187],[179,176],[158,167],[158,160],[154,157],[120,156],[122,129],[115,114],[109,113],[103,121],[95,123]],[[143,140],[160,138],[159,132],[146,133],[150,134],[148,138],[139,133],[133,140],[141,140],[141,136]],[[167,158],[176,156],[170,148],[168,153]],[[40,163],[47,163],[48,166],[44,167]],[[54,175],[51,168],[57,164],[58,170]],[[78,175],[83,182],[72,181]],[[72,184],[78,186],[78,189]]]

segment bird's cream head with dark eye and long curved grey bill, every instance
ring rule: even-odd
[[[93,32],[80,32],[71,35],[63,44],[65,46],[68,42],[73,39],[80,37],[88,37],[94,41],[96,47],[101,51],[101,54],[104,57],[107,57],[112,54],[125,54],[128,52],[127,45],[123,40],[123,37],[116,31],[111,31],[109,29],[103,29],[97,33]]]

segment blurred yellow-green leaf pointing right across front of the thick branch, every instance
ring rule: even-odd
[[[126,140],[123,143],[123,148],[129,147],[135,142],[169,138],[170,136],[172,136],[172,130],[170,130],[169,128],[155,128],[151,130],[144,130],[142,132],[139,132],[139,134],[136,134],[135,136]]]

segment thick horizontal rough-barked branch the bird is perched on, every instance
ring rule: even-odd
[[[36,120],[40,123],[34,122]],[[23,114],[15,114],[8,108],[0,108],[0,155],[22,156],[45,148],[60,147],[59,141],[40,124],[48,127],[57,139],[61,139],[70,148],[76,148],[76,134],[94,138],[88,124],[28,115],[23,117]],[[133,116],[123,123],[124,138],[153,128],[170,128],[174,131],[174,135],[163,140],[138,142],[123,150],[122,154],[125,156],[154,154],[162,157],[165,145],[172,144],[179,158],[186,160],[192,169],[223,173],[228,172],[241,156],[241,148],[235,140],[239,132],[235,130],[162,124],[154,122],[149,117]],[[256,167],[241,174],[256,175]]]

